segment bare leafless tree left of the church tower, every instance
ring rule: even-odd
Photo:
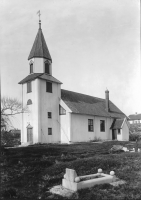
[[[28,107],[23,107],[22,103],[16,98],[1,98],[1,127],[8,129],[13,127],[11,119],[18,114],[28,112]]]

